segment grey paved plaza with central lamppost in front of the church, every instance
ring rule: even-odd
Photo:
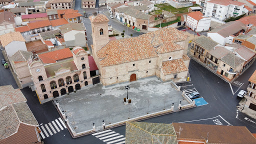
[[[170,83],[162,83],[157,77],[141,78],[129,83],[128,99],[131,104],[124,105],[123,98],[126,97],[125,85],[116,84],[103,87],[97,84],[85,89],[72,92],[69,95],[55,98],[60,107],[68,116],[69,123],[75,132],[92,129],[92,123],[96,127],[105,124],[134,118],[169,109],[174,103],[174,110],[181,104],[188,104],[183,100],[181,91],[175,90]]]

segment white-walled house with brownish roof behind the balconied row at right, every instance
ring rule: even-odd
[[[230,21],[208,31],[207,36],[221,45],[225,45],[226,43],[231,44],[233,37],[245,32],[247,28],[241,21]]]

